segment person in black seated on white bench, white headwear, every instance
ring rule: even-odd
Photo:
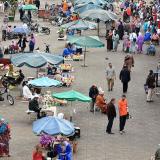
[[[39,103],[38,103],[38,95],[35,95],[35,97],[29,101],[28,108],[29,108],[29,110],[37,113],[37,119],[41,118],[41,116],[40,116],[41,108],[39,107]]]

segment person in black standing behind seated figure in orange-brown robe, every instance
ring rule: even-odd
[[[94,104],[96,102],[96,97],[99,94],[98,88],[97,86],[94,84],[91,86],[91,88],[89,89],[89,97],[92,98],[92,102],[90,105],[90,111],[93,112],[94,111]]]

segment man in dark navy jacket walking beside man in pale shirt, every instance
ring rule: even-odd
[[[127,66],[123,66],[119,75],[119,79],[123,84],[123,93],[127,93],[128,82],[131,80],[130,71],[128,70]]]

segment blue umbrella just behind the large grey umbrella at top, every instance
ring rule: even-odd
[[[101,7],[92,3],[83,4],[80,7],[74,7],[74,11],[80,14],[91,9],[101,9]]]

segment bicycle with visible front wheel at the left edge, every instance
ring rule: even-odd
[[[4,90],[0,90],[0,101],[4,101],[2,95],[6,94],[7,101],[10,105],[14,105],[14,98],[10,95],[9,89],[4,88]]]

